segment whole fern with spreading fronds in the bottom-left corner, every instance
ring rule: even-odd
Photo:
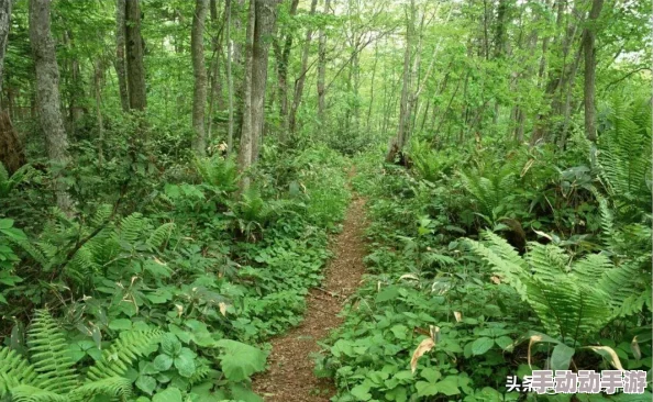
[[[0,347],[0,398],[21,402],[77,402],[106,395],[121,401],[132,394],[130,366],[154,345],[158,331],[123,333],[80,376],[66,337],[47,310],[37,310],[27,332],[29,358]]]

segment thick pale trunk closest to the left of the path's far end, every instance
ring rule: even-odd
[[[252,58],[252,161],[258,159],[265,122],[265,88],[269,37],[275,32],[277,0],[255,0],[256,24],[254,26],[254,54]]]

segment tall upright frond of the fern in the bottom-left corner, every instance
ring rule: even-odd
[[[77,384],[68,343],[47,310],[36,310],[27,331],[27,345],[35,371],[46,391],[65,394]]]

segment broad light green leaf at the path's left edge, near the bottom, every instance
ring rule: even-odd
[[[242,381],[265,370],[267,354],[258,348],[231,339],[220,339],[215,346],[223,348],[220,362],[228,380]]]

